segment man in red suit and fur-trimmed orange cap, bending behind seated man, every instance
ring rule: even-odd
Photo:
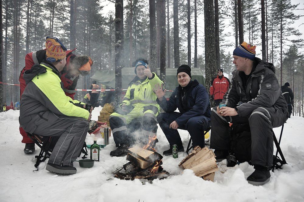
[[[64,86],[65,95],[74,99],[75,88],[77,85],[77,81],[79,79],[79,74],[87,75],[91,70],[91,65],[93,61],[90,57],[83,55],[77,56],[73,54],[73,50],[66,51],[66,65],[63,68],[61,73],[61,82]],[[40,64],[43,60],[46,59],[46,49],[38,50],[35,52],[31,52],[26,54],[25,56],[25,67],[22,69],[19,82],[20,82],[20,98],[23,94],[23,91],[26,87],[26,82],[23,78],[24,71],[29,70],[33,67],[34,64]],[[35,151],[34,142],[27,136],[26,132],[22,127],[19,127],[20,134],[23,136],[22,143],[25,143],[24,153],[32,154]]]

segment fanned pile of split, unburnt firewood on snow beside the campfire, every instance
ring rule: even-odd
[[[214,179],[214,172],[218,170],[214,153],[206,147],[200,148],[199,146],[195,147],[178,166],[183,169],[191,169],[196,176],[211,181]]]

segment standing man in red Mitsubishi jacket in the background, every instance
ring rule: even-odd
[[[222,102],[223,96],[229,89],[230,81],[223,74],[223,69],[218,69],[218,75],[212,80],[210,86],[210,99],[214,100],[215,106]]]

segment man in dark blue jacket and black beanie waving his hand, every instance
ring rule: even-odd
[[[187,130],[192,138],[193,147],[205,146],[204,130],[210,127],[211,109],[207,90],[197,80],[191,80],[191,68],[183,64],[177,69],[179,86],[169,98],[164,97],[166,89],[155,87],[157,103],[166,113],[158,115],[157,120],[169,141],[170,148],[163,155],[172,154],[172,145],[177,145],[178,151],[183,152],[183,143],[177,129]],[[180,112],[174,112],[178,108]]]

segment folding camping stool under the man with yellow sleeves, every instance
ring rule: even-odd
[[[41,136],[36,134],[30,134],[26,133],[27,136],[34,141],[34,143],[41,149],[39,155],[36,155],[35,158],[37,158],[35,163],[35,168],[38,170],[38,165],[41,162],[44,162],[47,158],[51,156],[51,153],[53,151],[53,148],[55,147],[59,136]],[[87,158],[86,155],[88,155],[88,151],[86,149],[86,142],[83,145],[84,148],[82,148],[81,152],[79,153],[79,156],[81,153],[83,153],[82,159]],[[33,170],[33,171],[37,171]]]

